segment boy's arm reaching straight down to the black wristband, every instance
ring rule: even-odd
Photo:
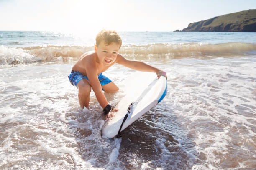
[[[90,81],[90,85],[92,86],[92,90],[95,93],[95,96],[100,103],[102,108],[105,108],[108,105],[108,101],[105,95],[102,92],[100,81],[97,75],[97,66],[95,62],[86,62],[85,63],[85,70],[87,77]]]

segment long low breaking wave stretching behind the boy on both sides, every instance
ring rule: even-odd
[[[94,47],[46,46],[15,48],[2,45],[0,46],[0,65],[77,60],[84,52],[90,50],[94,50]],[[121,47],[119,53],[133,60],[236,57],[256,55],[256,44],[229,42],[222,44],[184,43],[129,45]]]

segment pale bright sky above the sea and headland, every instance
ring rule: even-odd
[[[256,9],[256,0],[0,0],[0,30],[174,31]]]

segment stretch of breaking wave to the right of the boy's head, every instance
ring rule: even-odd
[[[186,44],[154,44],[146,46],[127,46],[120,53],[151,58],[205,58],[243,56],[255,51],[256,44],[233,42],[223,44],[186,43]]]

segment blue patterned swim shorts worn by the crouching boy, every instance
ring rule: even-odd
[[[76,87],[77,87],[78,82],[79,82],[80,80],[83,80],[83,79],[88,80],[88,82],[90,83],[88,77],[82,75],[79,71],[74,71],[74,70],[72,70],[71,73],[70,73],[70,75],[69,75],[68,77],[69,77],[70,83],[71,83],[72,85],[76,86]],[[99,79],[100,84],[101,84],[102,86],[107,85],[108,83],[111,82],[111,80],[110,80],[108,77],[106,77],[105,75],[102,75],[102,73],[100,73],[100,74],[98,75],[98,79]]]

